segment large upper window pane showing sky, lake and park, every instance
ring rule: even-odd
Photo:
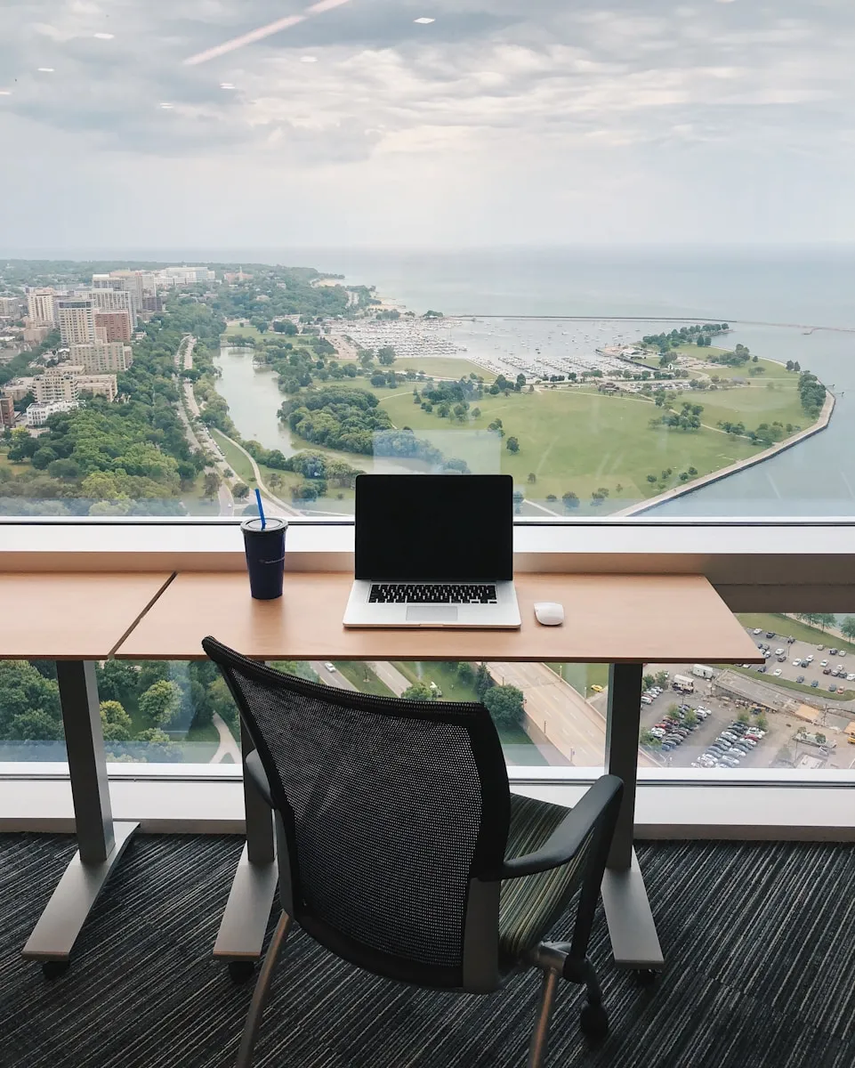
[[[31,6],[0,514],[855,512],[851,3]]]

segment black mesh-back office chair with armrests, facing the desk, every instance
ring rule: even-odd
[[[528,1066],[547,1051],[559,978],[584,984],[583,1031],[608,1030],[586,956],[621,781],[572,810],[510,794],[482,705],[339,690],[248,660],[213,638],[255,744],[243,763],[273,810],[283,915],[238,1053],[249,1068],[273,967],[291,924],[375,975],[491,993],[543,973]],[[570,943],[547,936],[579,891]]]

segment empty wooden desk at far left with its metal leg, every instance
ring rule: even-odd
[[[74,943],[137,823],[113,822],[95,661],[106,660],[172,576],[0,575],[0,658],[56,660],[78,851],[23,956],[46,973],[67,967]]]

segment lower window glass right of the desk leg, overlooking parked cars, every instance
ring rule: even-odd
[[[649,664],[642,752],[663,768],[855,768],[855,616],[738,617],[765,663]]]

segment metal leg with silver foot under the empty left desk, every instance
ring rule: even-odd
[[[95,664],[59,661],[57,680],[68,754],[78,850],[27,941],[22,956],[62,970],[104,884],[139,827],[113,822]]]

